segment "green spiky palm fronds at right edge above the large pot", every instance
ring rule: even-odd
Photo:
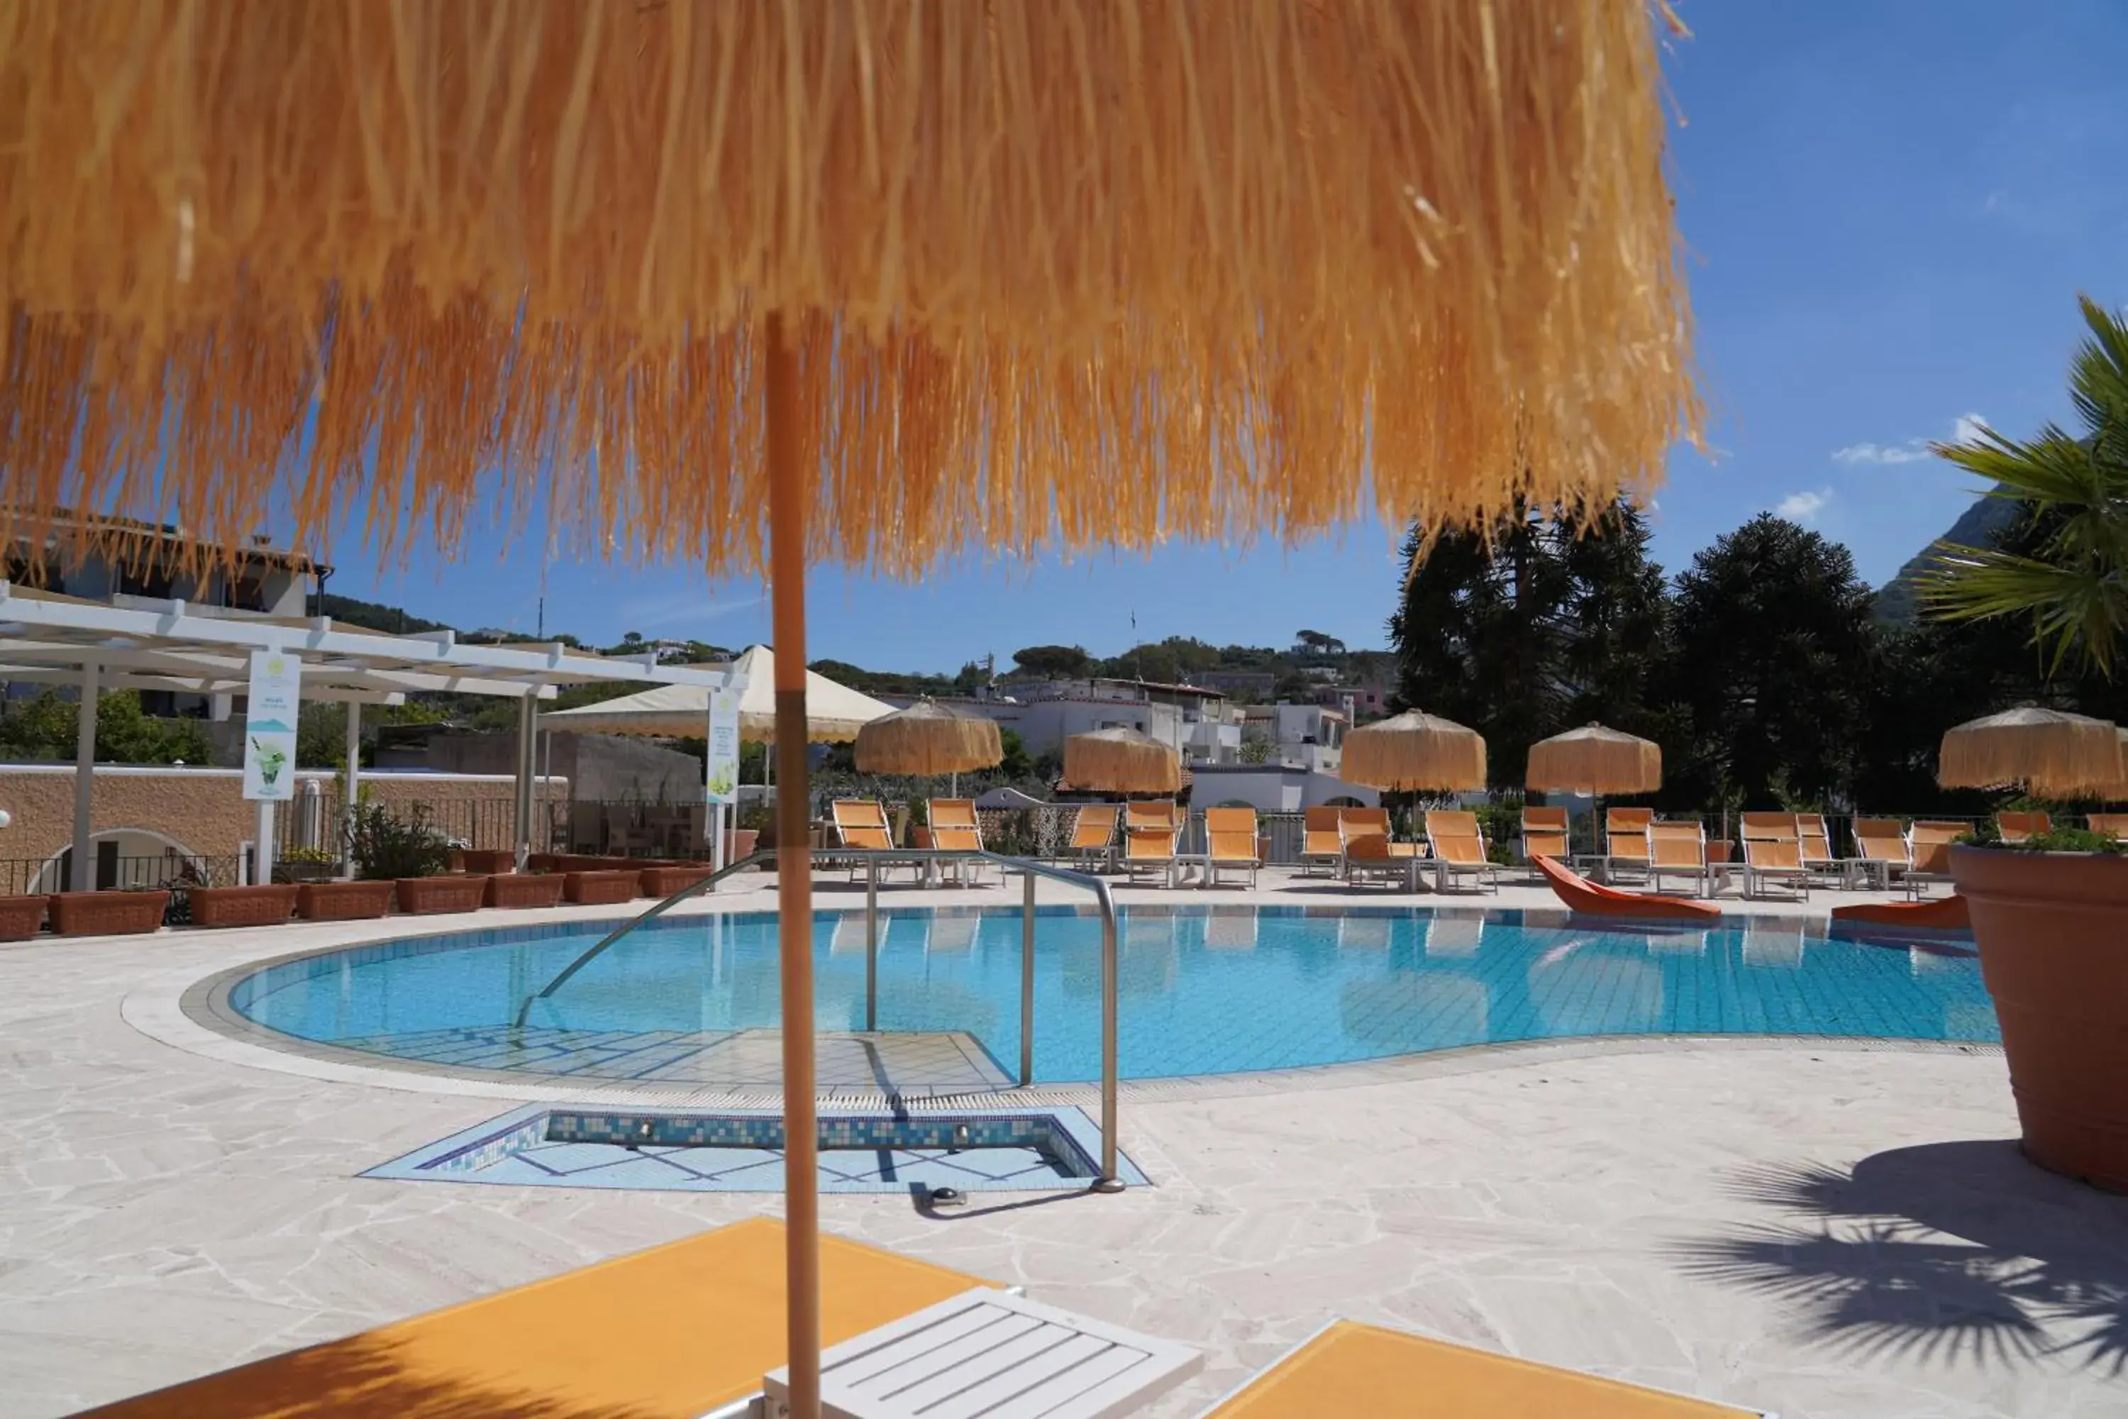
[[[1981,425],[1971,443],[1932,445],[1990,479],[1990,498],[2030,506],[2028,551],[1945,542],[1922,604],[1954,621],[2028,615],[2049,674],[2075,651],[2113,679],[2128,632],[2128,321],[2088,296],[2077,300],[2092,330],[2068,366],[2083,434],[2049,423],[2015,443]]]

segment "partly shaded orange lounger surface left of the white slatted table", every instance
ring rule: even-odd
[[[824,1345],[990,1285],[830,1234],[819,1270]],[[787,1359],[783,1223],[762,1217],[87,1415],[696,1419]]]

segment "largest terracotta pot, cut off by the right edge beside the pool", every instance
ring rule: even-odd
[[[2128,1191],[2128,857],[1951,849],[2024,1155]]]

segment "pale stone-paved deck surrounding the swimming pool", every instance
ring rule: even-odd
[[[743,881],[687,911],[772,908],[768,879]],[[1119,889],[1170,898],[1413,900],[1281,877]],[[1809,915],[1839,900],[1813,894]],[[1453,904],[1551,902],[1511,887]],[[0,1415],[62,1415],[775,1211],[364,1179],[515,1104],[487,1081],[266,1049],[179,1006],[247,962],[449,925],[0,947]],[[2019,1157],[1985,1047],[1581,1040],[1177,1081],[1126,1096],[1121,1138],[1156,1187],[979,1193],[947,1213],[830,1196],[821,1215],[1204,1347],[1158,1419],[1336,1315],[1788,1419],[2128,1413],[2128,1200]]]

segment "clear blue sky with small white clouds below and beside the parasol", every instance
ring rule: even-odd
[[[1847,542],[1881,583],[1941,534],[1971,485],[1919,451],[1983,417],[2066,419],[2075,294],[2128,304],[2128,4],[2122,0],[1785,0],[1681,6],[1673,45],[1679,221],[1709,400],[1709,455],[1681,449],[1658,496],[1675,570],[1777,508]],[[817,570],[809,657],[953,670],[994,651],[1192,634],[1279,645],[1324,630],[1383,645],[1396,532],[1298,549],[1168,547],[919,585]],[[332,549],[334,591],[455,625],[587,640],[768,638],[760,585],[562,562],[538,536],[475,536],[455,564],[375,568]],[[1136,632],[1130,617],[1136,613]]]

